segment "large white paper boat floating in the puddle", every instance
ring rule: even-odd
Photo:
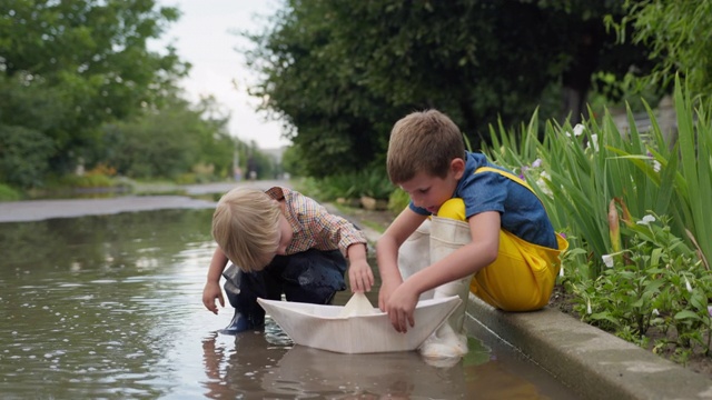
[[[399,333],[378,309],[342,317],[344,306],[257,301],[295,343],[349,354],[415,350],[462,302],[457,296],[421,300],[415,307],[415,327]]]

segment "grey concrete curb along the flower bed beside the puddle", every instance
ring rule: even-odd
[[[370,246],[380,237],[344,217]],[[712,399],[711,379],[556,309],[504,312],[471,294],[466,324],[471,332],[484,326],[584,399]]]

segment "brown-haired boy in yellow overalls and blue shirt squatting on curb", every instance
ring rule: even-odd
[[[414,327],[419,299],[457,294],[463,304],[421,348],[424,356],[466,353],[468,291],[505,311],[548,302],[566,241],[554,232],[526,182],[465,151],[457,126],[436,110],[395,123],[390,181],[411,197],[376,246],[378,307],[399,332]]]

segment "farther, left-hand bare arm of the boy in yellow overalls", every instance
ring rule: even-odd
[[[421,216],[406,208],[396,217],[376,243],[376,258],[382,282],[378,292],[378,308],[383,311],[386,311],[386,302],[390,293],[403,282],[398,270],[398,249],[426,218],[426,216]]]

